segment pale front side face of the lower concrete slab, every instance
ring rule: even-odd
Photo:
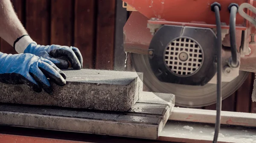
[[[159,125],[0,112],[0,124],[122,137],[157,139]],[[131,132],[132,131],[132,132]]]

